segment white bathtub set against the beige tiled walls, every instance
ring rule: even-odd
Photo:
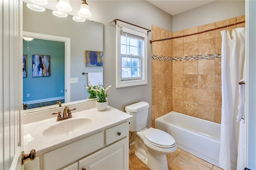
[[[172,135],[180,149],[220,167],[219,123],[171,111],[155,119],[155,127]]]

